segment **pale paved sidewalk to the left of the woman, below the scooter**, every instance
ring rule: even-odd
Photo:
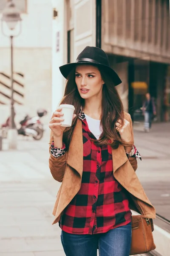
[[[45,140],[46,138],[46,140]],[[18,150],[0,152],[0,256],[64,256],[52,225],[59,183],[48,168],[48,137],[19,137]]]

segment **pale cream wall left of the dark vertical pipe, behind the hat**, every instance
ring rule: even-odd
[[[59,66],[75,61],[87,45],[96,44],[96,0],[52,0],[53,20],[52,109],[61,100],[65,79]]]

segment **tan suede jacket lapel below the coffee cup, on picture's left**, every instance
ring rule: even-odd
[[[74,168],[82,178],[83,170],[83,141],[82,141],[82,121],[77,119],[73,136],[67,153],[67,163]]]

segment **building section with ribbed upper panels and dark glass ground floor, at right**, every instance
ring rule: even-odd
[[[158,120],[170,120],[169,0],[102,0],[102,49],[118,73],[127,74],[120,87],[134,119],[149,92]]]

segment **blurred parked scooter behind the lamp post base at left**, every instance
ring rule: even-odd
[[[43,136],[43,125],[40,121],[42,116],[47,114],[46,110],[38,110],[37,116],[30,117],[26,115],[23,120],[20,121],[20,128],[17,130],[18,134],[23,136],[33,137],[34,140],[40,140]],[[10,126],[10,118],[6,120],[6,123],[1,125],[2,129],[2,137],[7,138],[8,136],[8,128]]]

